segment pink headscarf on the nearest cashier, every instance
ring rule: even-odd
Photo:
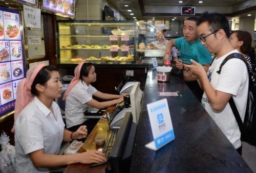
[[[34,82],[34,79],[37,73],[44,66],[46,65],[40,64],[40,65],[31,67],[27,71],[27,78],[24,78],[22,81],[18,83],[17,91],[16,91],[15,109],[14,109],[14,122],[16,121],[19,112],[22,111],[23,108],[29,104],[29,102],[32,101],[34,95],[31,93],[31,86]],[[15,132],[14,126],[11,132]]]

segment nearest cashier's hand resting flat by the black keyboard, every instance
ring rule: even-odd
[[[91,164],[106,162],[105,155],[99,151],[91,150],[88,152],[79,153],[79,163]]]

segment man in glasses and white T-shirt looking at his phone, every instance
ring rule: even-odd
[[[239,53],[229,41],[229,22],[223,14],[205,12],[199,18],[197,26],[202,44],[217,57],[207,73],[194,60],[190,60],[193,65],[185,65],[185,68],[198,79],[204,90],[202,105],[205,110],[242,155],[240,130],[228,101],[232,96],[241,119],[244,120],[248,93],[247,67],[242,60],[233,58],[223,65],[220,74],[217,72],[228,55]]]

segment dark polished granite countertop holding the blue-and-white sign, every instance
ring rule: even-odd
[[[181,96],[159,96],[179,91]],[[145,147],[153,140],[146,104],[166,98],[175,139],[158,151]],[[135,138],[131,172],[252,172],[182,79],[156,80],[149,70]]]

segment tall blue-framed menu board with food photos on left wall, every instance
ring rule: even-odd
[[[17,84],[25,77],[19,11],[0,7],[0,119],[14,110]]]

